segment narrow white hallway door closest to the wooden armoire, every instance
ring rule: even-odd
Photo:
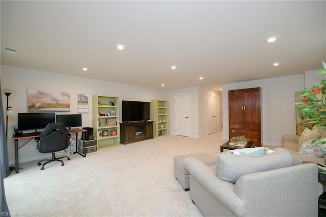
[[[219,98],[207,95],[207,133],[219,131]]]

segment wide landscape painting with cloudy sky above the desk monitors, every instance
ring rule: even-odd
[[[28,89],[28,112],[70,112],[70,94],[64,91]]]

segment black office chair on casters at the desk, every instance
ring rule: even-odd
[[[63,161],[60,160],[63,157],[56,157],[55,152],[61,151],[66,148],[68,148],[68,130],[66,126],[63,123],[49,123],[45,129],[41,132],[41,137],[36,138],[36,148],[39,150],[39,152],[42,153],[52,153],[52,159],[44,159],[46,162],[41,167],[41,170],[44,169],[44,166],[51,161],[61,161],[61,166],[64,166]],[[67,157],[68,160],[70,160],[69,157]],[[37,165],[41,166],[40,160]]]

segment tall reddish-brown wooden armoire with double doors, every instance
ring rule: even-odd
[[[245,135],[256,146],[262,142],[261,88],[229,91],[229,139]]]

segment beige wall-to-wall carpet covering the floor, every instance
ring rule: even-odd
[[[173,175],[173,156],[220,152],[222,131],[200,139],[166,135],[71,160],[20,164],[4,179],[17,216],[203,216]],[[32,144],[29,144],[32,145]]]

